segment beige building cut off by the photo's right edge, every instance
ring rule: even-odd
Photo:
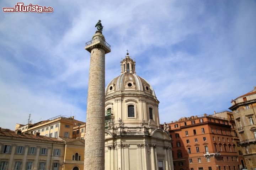
[[[256,87],[249,93],[231,101],[229,108],[234,115],[248,169],[256,168]]]

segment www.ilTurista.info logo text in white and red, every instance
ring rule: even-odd
[[[53,8],[48,6],[40,6],[40,5],[24,5],[23,2],[18,2],[14,7],[3,7],[3,12],[53,12]]]

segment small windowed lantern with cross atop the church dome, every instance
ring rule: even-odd
[[[121,63],[121,74],[124,73],[133,73],[136,74],[135,72],[135,61],[130,58],[128,50],[126,50],[126,57],[120,62]]]

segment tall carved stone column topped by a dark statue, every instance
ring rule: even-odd
[[[104,170],[105,160],[105,54],[110,45],[102,35],[103,26],[99,20],[92,40],[85,50],[91,53],[87,117],[85,130],[84,170]]]

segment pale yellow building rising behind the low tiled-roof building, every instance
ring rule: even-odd
[[[73,137],[73,128],[76,126],[85,125],[85,122],[78,121],[72,117],[66,117],[59,115],[48,120],[39,121],[35,124],[16,124],[15,130],[21,130],[21,132],[29,132],[32,134],[40,133],[46,137]]]

